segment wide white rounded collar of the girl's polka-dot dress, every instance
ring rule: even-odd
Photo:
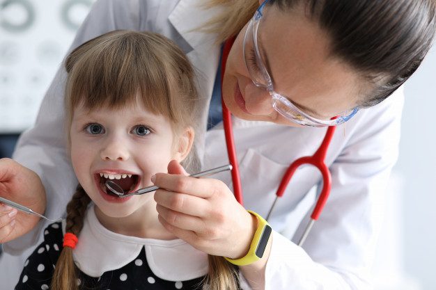
[[[93,205],[86,212],[73,257],[86,275],[100,277],[104,272],[129,264],[138,257],[143,247],[146,249],[148,266],[159,278],[185,281],[208,273],[208,255],[204,252],[181,239],[142,239],[111,232],[99,222]]]

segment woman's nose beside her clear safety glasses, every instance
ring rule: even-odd
[[[270,115],[273,113],[272,97],[265,88],[259,88],[249,83],[244,92],[245,108],[252,115]]]

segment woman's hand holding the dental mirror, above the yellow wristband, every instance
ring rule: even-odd
[[[154,184],[159,221],[175,236],[210,255],[244,257],[256,231],[251,216],[223,182],[187,177],[177,161]],[[166,188],[166,189],[163,189]]]

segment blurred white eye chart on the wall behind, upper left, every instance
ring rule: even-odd
[[[0,134],[35,122],[94,0],[0,0]]]

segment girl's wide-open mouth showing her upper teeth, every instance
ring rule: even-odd
[[[133,191],[136,191],[139,187],[139,175],[132,175],[127,173],[119,173],[119,174],[109,174],[109,173],[97,173],[98,180],[100,180],[100,188],[104,193],[107,193],[108,195],[118,197],[116,193],[113,193],[109,190],[106,186],[106,182],[109,180],[111,182],[114,182],[116,185],[120,186],[120,188],[123,188],[124,194],[131,193]]]

